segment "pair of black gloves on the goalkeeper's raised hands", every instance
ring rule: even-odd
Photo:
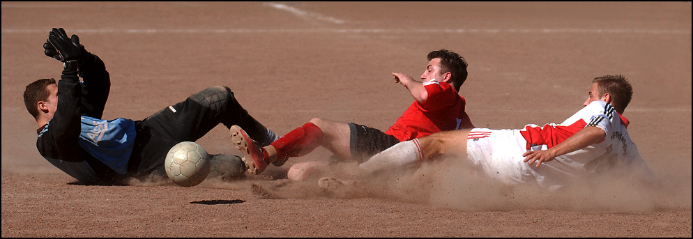
[[[53,31],[48,33],[48,43],[54,47],[59,58],[56,58],[56,54],[52,52],[52,49],[49,49],[50,47],[44,44],[45,54],[62,62],[77,61],[86,52],[84,46],[79,44],[79,37],[73,35],[72,38],[68,38],[68,34],[62,28],[54,28]]]

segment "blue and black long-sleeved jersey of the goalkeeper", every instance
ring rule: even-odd
[[[99,119],[110,84],[103,61],[94,54],[79,62],[79,71],[65,68],[58,82],[57,110],[37,130],[39,153],[82,183],[113,183],[127,171],[134,121]]]

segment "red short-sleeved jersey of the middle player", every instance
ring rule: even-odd
[[[423,85],[428,92],[427,100],[414,101],[386,134],[406,141],[441,131],[474,128],[464,111],[464,98],[450,84],[432,79]]]

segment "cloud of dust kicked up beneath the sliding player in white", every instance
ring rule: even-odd
[[[549,191],[538,185],[506,185],[461,163],[443,160],[363,178],[371,196],[429,203],[456,210],[551,209],[644,213],[691,208],[691,178],[609,171]],[[630,171],[632,172],[632,171]],[[652,179],[652,178],[650,178]]]

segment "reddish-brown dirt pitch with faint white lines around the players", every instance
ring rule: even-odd
[[[413,101],[390,72],[417,78],[435,49],[468,61],[460,95],[481,128],[561,123],[591,79],[623,74],[630,135],[661,184],[549,193],[423,167],[342,197],[286,178],[330,156],[319,148],[235,182],[79,185],[39,155],[22,104],[26,84],[60,77],[42,49],[52,27],[105,61],[104,118],[142,119],[225,85],[277,134],[314,117],[386,130]],[[3,1],[2,237],[690,238],[691,46],[690,1]],[[219,126],[198,143],[238,155],[229,139]]]

